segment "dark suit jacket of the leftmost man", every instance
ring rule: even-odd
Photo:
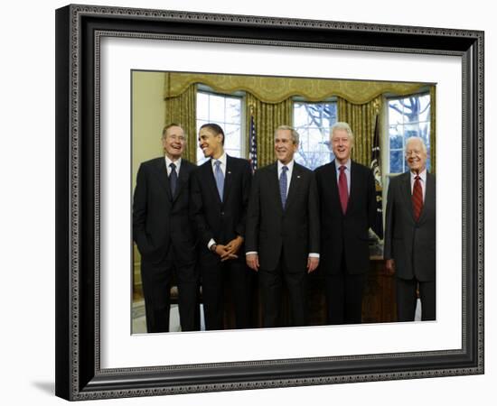
[[[189,216],[189,181],[196,168],[181,163],[174,196],[171,194],[164,157],[145,161],[136,175],[133,199],[133,239],[145,260],[164,259],[169,245],[180,258],[194,258],[195,234]]]

